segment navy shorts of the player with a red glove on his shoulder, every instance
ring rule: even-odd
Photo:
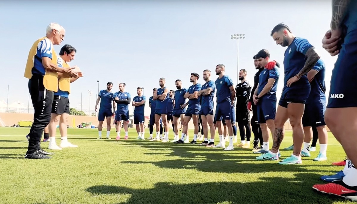
[[[258,123],[265,123],[268,119],[275,119],[275,113],[276,97],[261,98],[261,100],[257,104]]]

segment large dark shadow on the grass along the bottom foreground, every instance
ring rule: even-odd
[[[265,177],[256,182],[209,182],[176,184],[159,182],[150,189],[132,189],[121,186],[97,185],[86,189],[93,195],[130,194],[127,202],[117,204],[181,204],[181,203],[334,203],[340,199],[329,198],[313,192],[312,185],[319,183],[318,175],[295,174],[295,178]],[[320,182],[321,183],[321,182]]]

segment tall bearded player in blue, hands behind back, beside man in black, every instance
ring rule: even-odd
[[[218,78],[216,80],[216,88],[217,88],[217,105],[216,105],[216,125],[218,128],[218,134],[220,134],[220,142],[213,147],[225,148],[226,143],[224,141],[223,136],[221,135],[222,130],[222,122],[221,120],[225,120],[228,135],[229,135],[229,145],[224,150],[233,150],[233,127],[231,122],[231,107],[234,107],[234,99],[236,97],[236,90],[233,86],[233,81],[230,77],[225,75],[226,67],[224,65],[216,66],[216,75]]]

